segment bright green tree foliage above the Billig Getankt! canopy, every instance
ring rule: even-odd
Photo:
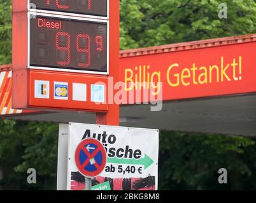
[[[224,1],[227,19],[218,18],[220,3],[218,0],[121,0],[121,48],[256,32],[255,1]]]

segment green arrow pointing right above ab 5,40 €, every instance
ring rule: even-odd
[[[110,164],[131,164],[131,165],[143,165],[144,169],[147,169],[153,164],[153,160],[145,154],[144,158],[141,159],[118,159],[117,157],[108,157],[108,163]]]

